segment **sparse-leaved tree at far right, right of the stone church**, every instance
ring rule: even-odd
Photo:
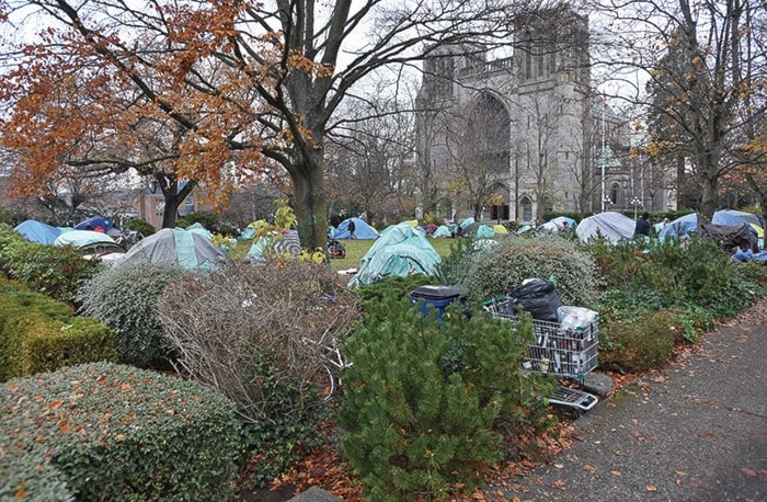
[[[622,98],[646,109],[649,153],[690,170],[702,186],[698,221],[710,221],[723,176],[744,168],[748,156],[743,153],[755,151],[749,145],[764,130],[756,122],[767,111],[764,2],[604,0],[594,5],[609,19],[600,64],[610,78],[623,76]],[[628,93],[627,84],[634,92]]]

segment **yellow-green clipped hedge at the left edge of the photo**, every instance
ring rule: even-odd
[[[114,332],[102,322],[19,284],[0,285],[0,381],[115,358]]]

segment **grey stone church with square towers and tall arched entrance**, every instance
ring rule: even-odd
[[[515,33],[505,57],[481,45],[427,49],[416,101],[416,166],[434,184],[424,212],[540,223],[548,210],[637,198],[650,208],[628,192],[627,125],[592,89],[588,20],[560,7],[518,16]]]

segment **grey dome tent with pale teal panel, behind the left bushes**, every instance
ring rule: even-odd
[[[229,255],[207,238],[183,228],[163,228],[141,239],[115,265],[137,261],[178,263],[183,269],[216,269],[231,263]]]

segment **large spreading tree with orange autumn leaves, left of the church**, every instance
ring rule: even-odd
[[[44,71],[53,88],[84,69],[108,75],[136,93],[142,106],[131,112],[171,119],[187,132],[179,158],[194,162],[176,161],[173,169],[214,196],[227,198],[233,179],[259,170],[265,159],[279,163],[291,180],[301,241],[313,249],[325,242],[324,148],[341,102],[378,69],[417,61],[424,44],[507,41],[511,20],[525,2],[10,0],[3,5],[0,14],[32,7],[55,22],[36,41],[38,49],[26,59],[19,53],[18,70],[5,81],[12,92],[2,99],[12,101],[28,89],[14,82],[39,81],[42,73],[27,71],[31,67]],[[57,130],[62,126],[55,123]]]

